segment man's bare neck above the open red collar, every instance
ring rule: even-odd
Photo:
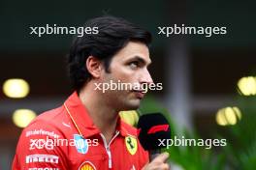
[[[89,86],[90,84],[88,83],[81,89],[79,94],[80,100],[88,110],[93,124],[100,129],[109,143],[115,132],[118,112],[106,104],[102,98],[102,94],[89,88]]]

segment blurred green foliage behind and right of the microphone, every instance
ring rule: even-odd
[[[227,139],[227,146],[218,150],[200,146],[172,146],[165,149],[170,153],[170,161],[185,170],[255,170],[256,169],[256,98],[237,99],[242,113],[241,121],[235,126],[216,129],[213,138]],[[167,109],[153,97],[144,99],[140,113],[163,113],[170,122],[172,136],[184,136],[186,139],[199,139],[197,131],[177,129]],[[181,131],[181,132],[180,132]],[[181,133],[181,134],[180,134]]]

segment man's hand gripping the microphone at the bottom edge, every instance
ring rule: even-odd
[[[144,165],[143,170],[169,170],[169,164],[166,163],[168,157],[168,153],[163,153],[155,157],[151,162]]]

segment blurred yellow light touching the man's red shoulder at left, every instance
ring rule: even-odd
[[[17,109],[13,115],[13,121],[16,127],[25,128],[37,117],[37,114],[29,109]]]

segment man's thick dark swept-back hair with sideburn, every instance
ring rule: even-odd
[[[143,42],[147,46],[151,42],[149,32],[119,17],[96,17],[88,20],[83,27],[98,27],[98,34],[84,34],[71,45],[68,71],[73,88],[78,92],[91,78],[85,66],[87,57],[94,56],[102,60],[105,70],[109,71],[112,56],[128,42]]]

